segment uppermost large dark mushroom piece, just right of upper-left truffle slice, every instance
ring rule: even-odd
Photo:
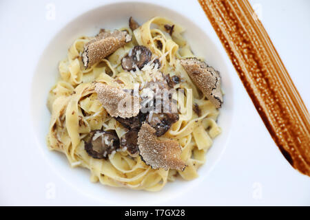
[[[127,56],[122,58],[122,67],[127,71],[142,69],[151,61],[152,52],[145,46],[135,46]]]

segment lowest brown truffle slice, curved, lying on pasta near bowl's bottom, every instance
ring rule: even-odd
[[[156,130],[143,123],[138,132],[138,148],[145,164],[152,168],[184,170],[185,162],[180,159],[182,149],[175,140],[158,140]]]

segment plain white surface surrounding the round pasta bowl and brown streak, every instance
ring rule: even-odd
[[[40,54],[74,17],[105,1],[0,1],[1,205],[105,205],[85,197],[46,169],[29,134],[29,85]],[[196,1],[160,1],[174,10],[205,16]],[[310,105],[310,1],[250,1],[308,109]],[[46,19],[46,5],[56,17]],[[207,19],[207,18],[206,18]],[[238,97],[225,153],[201,185],[161,205],[310,205],[310,178],[291,168],[273,143],[236,74]],[[29,152],[32,152],[29,154]],[[25,157],[24,155],[27,155]],[[30,156],[29,156],[30,155]],[[34,176],[34,174],[36,176]],[[50,198],[49,189],[56,196]],[[130,201],[128,201],[130,205]]]

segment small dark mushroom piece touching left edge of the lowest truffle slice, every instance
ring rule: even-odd
[[[121,148],[127,149],[131,155],[138,154],[138,130],[130,130],[121,137]]]

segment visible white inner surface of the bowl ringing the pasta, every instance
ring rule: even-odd
[[[50,112],[46,107],[50,87],[58,77],[58,64],[67,56],[68,48],[74,39],[82,35],[92,36],[99,32],[100,28],[115,29],[127,25],[128,19],[133,16],[139,23],[144,23],[152,17],[166,17],[183,25],[186,28],[185,38],[191,45],[197,56],[205,57],[205,61],[220,71],[223,91],[225,91],[223,108],[220,109],[218,123],[223,129],[214,140],[207,153],[207,162],[198,170],[199,177],[192,181],[177,179],[168,184],[160,192],[145,192],[126,188],[112,188],[90,182],[90,171],[83,168],[70,168],[70,165],[61,153],[49,151],[45,142],[50,122]],[[101,203],[117,205],[146,205],[156,204],[176,196],[181,196],[192,187],[204,187],[201,182],[214,167],[220,155],[225,150],[227,138],[231,129],[231,117],[233,115],[232,85],[228,69],[223,56],[213,41],[208,37],[207,30],[202,30],[191,21],[189,17],[178,14],[174,10],[163,8],[160,5],[139,2],[112,3],[103,5],[85,12],[73,21],[65,25],[52,41],[47,45],[38,62],[32,80],[31,113],[34,133],[39,149],[46,162],[65,182],[76,188],[79,192],[92,197]]]

